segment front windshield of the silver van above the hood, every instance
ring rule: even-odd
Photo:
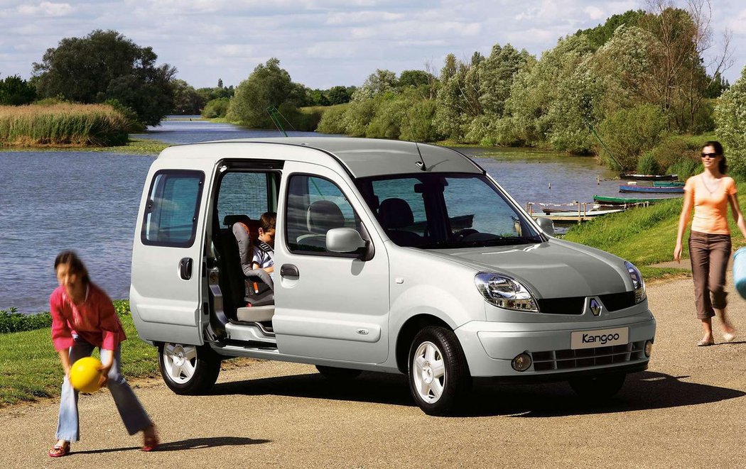
[[[541,243],[541,234],[481,174],[360,178],[357,187],[389,238],[421,249]]]

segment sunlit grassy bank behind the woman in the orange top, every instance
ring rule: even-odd
[[[738,182],[739,205],[746,203],[746,182]],[[563,239],[585,244],[611,252],[627,259],[639,267],[645,279],[664,278],[680,275],[688,269],[663,269],[651,267],[673,260],[676,232],[683,200],[664,200],[645,208],[632,208],[618,213],[604,215],[596,220],[573,226]],[[730,211],[730,209],[729,209]],[[730,232],[733,237],[733,250],[746,245],[732,217],[729,216]],[[689,222],[691,227],[691,220]],[[684,239],[683,257],[689,257],[689,248]],[[686,266],[688,261],[682,260]]]

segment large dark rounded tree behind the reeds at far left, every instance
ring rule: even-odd
[[[176,68],[156,66],[157,55],[116,31],[95,30],[84,38],[62,39],[34,63],[37,91],[80,103],[119,100],[140,121],[157,124],[172,109]]]

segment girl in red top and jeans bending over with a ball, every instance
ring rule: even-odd
[[[70,366],[88,357],[93,348],[101,351],[101,386],[107,386],[116,409],[130,435],[142,431],[142,450],[154,450],[158,445],[153,422],[135,397],[119,369],[120,344],[127,337],[116,316],[114,305],[88,277],[88,271],[78,255],[63,251],[54,260],[54,271],[60,286],[49,297],[51,339],[60,354],[65,371],[60,398],[60,418],[57,424],[57,444],[49,450],[56,458],[70,452],[70,441],[78,441],[78,392],[69,379]]]

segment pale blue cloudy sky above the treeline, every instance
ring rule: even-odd
[[[746,2],[710,1],[713,53],[732,31],[733,83],[746,65]],[[360,86],[377,68],[437,73],[446,55],[468,60],[495,44],[540,57],[562,36],[640,8],[645,0],[0,0],[0,78],[28,80],[61,39],[113,29],[195,88],[236,86],[270,57],[310,88]]]

